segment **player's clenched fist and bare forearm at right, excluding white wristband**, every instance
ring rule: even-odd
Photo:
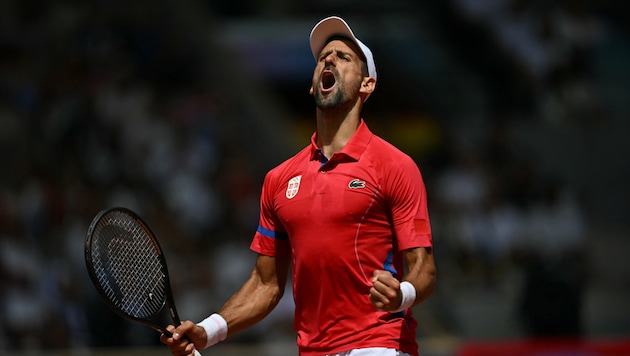
[[[411,283],[416,290],[413,305],[427,299],[435,289],[436,270],[433,250],[430,247],[418,247],[404,251],[405,262],[409,272],[405,281]],[[395,311],[402,302],[400,282],[390,272],[374,271],[373,287],[370,289],[370,300],[380,310]]]

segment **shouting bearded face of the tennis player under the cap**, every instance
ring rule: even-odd
[[[318,108],[329,109],[355,102],[364,78],[359,53],[350,40],[335,39],[324,46],[310,90]]]

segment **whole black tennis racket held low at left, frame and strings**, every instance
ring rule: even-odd
[[[181,324],[162,249],[133,211],[111,208],[94,217],[85,240],[85,263],[105,304],[122,318],[168,336],[172,334],[166,326]]]

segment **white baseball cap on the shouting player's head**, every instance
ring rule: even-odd
[[[356,43],[365,56],[369,76],[376,80],[376,66],[374,65],[374,57],[372,56],[372,51],[370,51],[370,49],[366,45],[364,45],[363,42],[359,41],[359,39],[356,38],[352,30],[350,29],[350,26],[348,26],[348,24],[341,17],[338,16],[330,16],[321,20],[311,30],[311,51],[313,52],[313,57],[315,58],[315,60],[317,60],[317,57],[319,57],[319,53],[326,45],[326,41],[328,41],[328,39],[332,36],[347,37],[348,39]]]

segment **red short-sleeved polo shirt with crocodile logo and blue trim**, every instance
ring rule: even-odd
[[[374,270],[402,280],[401,251],[432,246],[420,171],[363,121],[329,160],[315,139],[265,177],[251,244],[292,259],[300,355],[366,347],[417,355],[411,310],[380,312],[368,295]]]

